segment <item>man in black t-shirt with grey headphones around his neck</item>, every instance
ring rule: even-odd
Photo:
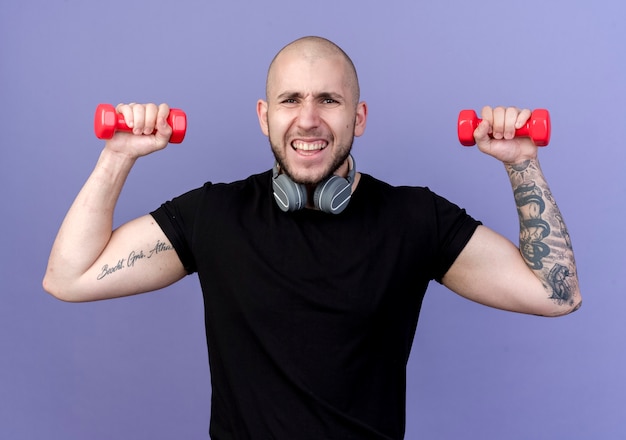
[[[112,231],[135,160],[171,135],[167,105],[119,105],[133,134],[107,141],[61,226],[44,287],[62,300],[147,292],[198,272],[212,438],[402,438],[406,362],[432,279],[515,312],[558,316],[581,304],[537,148],[514,138],[529,110],[485,107],[474,133],[510,176],[520,252],[426,188],[359,173],[359,99],[339,47],[296,40],[272,61],[257,104],[273,170],[207,183]]]

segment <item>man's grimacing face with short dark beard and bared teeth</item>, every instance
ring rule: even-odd
[[[354,136],[365,130],[367,108],[355,103],[354,83],[339,55],[282,53],[268,79],[267,101],[257,114],[281,171],[293,181],[316,185],[347,174]]]

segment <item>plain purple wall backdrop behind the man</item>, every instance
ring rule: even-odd
[[[138,162],[116,223],[202,184],[271,166],[255,103],[289,41],[354,59],[369,124],[360,170],[428,185],[517,240],[501,164],[456,139],[462,108],[550,109],[541,162],[584,305],[546,319],[432,284],[409,364],[407,439],[626,437],[626,6],[622,0],[3,1],[0,437],[206,438],[210,386],[195,277],[66,304],[41,278],[102,147],[100,102],[168,102],[182,145]]]

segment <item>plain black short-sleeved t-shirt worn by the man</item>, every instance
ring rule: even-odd
[[[269,171],[152,215],[202,286],[212,438],[403,437],[424,293],[479,222],[367,174],[339,215],[285,213]]]

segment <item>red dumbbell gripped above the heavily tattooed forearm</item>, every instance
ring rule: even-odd
[[[459,141],[466,147],[476,143],[474,130],[482,119],[478,119],[474,110],[461,110],[459,113]],[[536,109],[526,124],[515,130],[516,137],[529,137],[538,147],[545,147],[550,142],[550,113],[546,109]]]

